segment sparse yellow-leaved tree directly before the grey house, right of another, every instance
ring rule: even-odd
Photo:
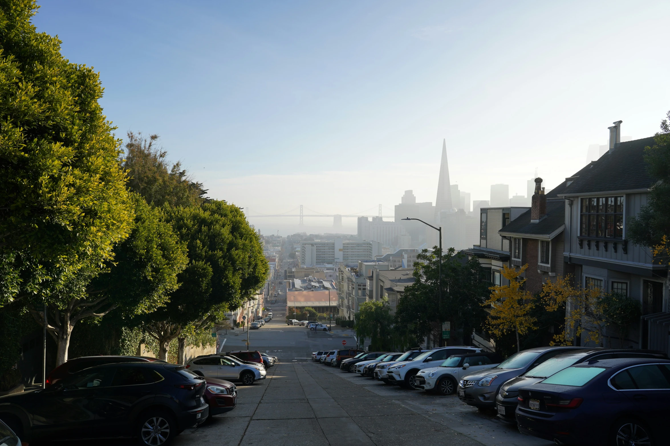
[[[572,276],[565,275],[543,284],[541,296],[547,311],[565,308],[563,332],[553,336],[551,345],[572,345],[576,336],[581,336],[582,342],[600,344],[608,323],[600,288],[574,286]]]

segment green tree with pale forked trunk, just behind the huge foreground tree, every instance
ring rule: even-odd
[[[137,194],[132,199],[133,230],[115,248],[114,261],[107,261],[103,268],[80,268],[50,296],[47,330],[58,346],[56,365],[68,360],[72,330],[80,320],[101,318],[118,308],[131,323],[131,316],[163,306],[179,286],[177,274],[187,262],[184,243],[161,210],[147,205]],[[29,311],[44,324],[42,312]]]

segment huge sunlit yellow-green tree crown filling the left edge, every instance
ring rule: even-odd
[[[133,221],[98,74],[36,31],[36,9],[0,3],[0,304],[80,282]]]

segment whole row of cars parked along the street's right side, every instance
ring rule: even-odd
[[[519,430],[569,445],[661,445],[670,419],[670,360],[653,350],[551,346],[501,360],[470,346],[407,352],[338,352],[312,359],[386,384],[456,393]],[[360,350],[356,350],[360,351]],[[341,356],[340,356],[341,357]]]

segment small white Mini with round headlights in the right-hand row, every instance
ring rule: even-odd
[[[435,391],[440,395],[452,395],[456,392],[461,376],[496,366],[500,364],[500,360],[497,353],[454,354],[437,367],[419,370],[414,377],[414,387]]]

